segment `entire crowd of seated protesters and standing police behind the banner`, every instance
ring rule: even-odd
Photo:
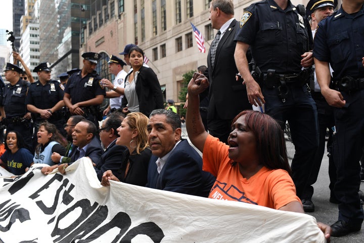
[[[207,67],[189,83],[183,119],[173,100],[164,107],[158,77],[133,44],[119,53],[125,62],[110,56],[113,82],[95,71],[100,55],[94,52],[82,54],[81,69],[58,75],[61,83],[51,79],[49,63],[34,68],[38,81],[31,83],[7,63],[0,163],[14,175],[48,164],[41,170],[47,175],[56,168],[67,173],[88,157],[103,186],[114,180],[304,213],[314,211],[312,185],[328,129],[330,201],[339,205],[339,217],[331,227],[318,225],[327,239],[358,231],[364,219],[363,3],[343,0],[334,13],[334,0],[310,0],[306,7],[264,0],[249,6],[239,23],[231,0],[212,0],[209,20],[218,31]],[[25,67],[19,54],[14,59]],[[100,110],[104,98],[110,105]],[[252,106],[264,106],[265,113]],[[181,139],[181,120],[202,157]],[[291,165],[286,123],[295,145]]]

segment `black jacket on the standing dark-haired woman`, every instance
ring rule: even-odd
[[[131,73],[131,72],[130,72]],[[126,75],[126,78],[130,75]],[[157,75],[150,67],[142,66],[138,71],[135,84],[136,95],[138,95],[139,111],[149,117],[155,109],[163,109],[163,94]],[[121,108],[126,107],[128,101],[124,96]]]

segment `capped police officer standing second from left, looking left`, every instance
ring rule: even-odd
[[[65,124],[62,115],[63,90],[57,80],[51,79],[50,63],[40,63],[33,69],[38,74],[38,81],[29,86],[26,96],[27,109],[32,112],[34,121],[33,146],[37,144],[36,133],[39,124],[48,121],[56,125],[58,131],[64,136],[63,125]]]

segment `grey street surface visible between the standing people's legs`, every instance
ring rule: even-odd
[[[182,127],[183,138],[188,139],[186,126]],[[294,154],[293,144],[287,142],[287,148],[289,154]],[[201,154],[201,153],[200,153]],[[319,178],[313,185],[314,194],[312,201],[315,205],[315,212],[307,213],[316,218],[317,221],[331,225],[336,222],[338,217],[338,208],[336,204],[332,204],[329,201],[330,190],[329,190],[329,157],[327,153],[324,154],[324,158],[321,164]],[[364,191],[364,182],[361,182],[360,189]],[[331,237],[332,243],[362,243],[364,242],[364,227],[358,232],[350,233],[344,237]]]

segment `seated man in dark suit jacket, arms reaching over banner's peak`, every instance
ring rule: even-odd
[[[43,167],[41,172],[44,175],[48,175],[58,166],[58,171],[64,174],[66,168],[81,157],[89,157],[93,163],[98,164],[104,150],[102,149],[100,140],[97,138],[96,134],[97,128],[92,121],[86,119],[81,120],[76,124],[72,133],[74,147],[72,149],[70,163],[60,164],[59,166]]]

